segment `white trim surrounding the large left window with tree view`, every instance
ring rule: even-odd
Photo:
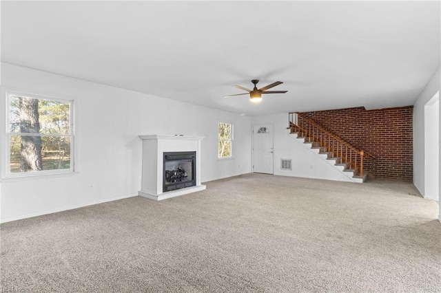
[[[10,138],[12,133],[10,133],[10,95],[15,96],[29,96],[30,98],[48,99],[48,100],[59,100],[61,102],[70,102],[70,135],[45,135],[40,134],[39,136],[68,136],[70,137],[70,168],[69,169],[59,169],[59,170],[46,170],[46,171],[34,171],[34,172],[21,172],[12,173],[10,171]],[[0,102],[0,113],[4,113],[4,119],[0,122],[0,127],[2,129],[2,135],[0,140],[0,161],[4,162],[3,168],[0,169],[0,180],[6,181],[10,179],[20,178],[43,178],[54,175],[69,175],[76,173],[76,104],[77,99],[73,96],[59,95],[59,94],[36,94],[32,91],[23,91],[21,89],[10,89],[2,87],[1,96],[4,98],[3,102]]]

